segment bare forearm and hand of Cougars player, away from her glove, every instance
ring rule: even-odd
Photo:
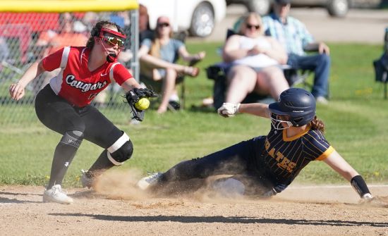
[[[25,70],[25,73],[20,78],[20,80],[15,84],[10,85],[9,94],[11,95],[11,98],[15,100],[21,99],[25,94],[25,87],[28,85],[28,83],[34,80],[35,77],[42,74],[43,72],[44,68],[42,67],[42,63],[38,61],[32,63],[30,68]]]

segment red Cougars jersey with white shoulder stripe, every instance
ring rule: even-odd
[[[45,70],[61,68],[61,72],[50,80],[50,87],[56,95],[74,106],[83,107],[90,104],[112,80],[121,85],[133,78],[118,62],[106,62],[90,71],[87,68],[89,55],[90,49],[85,46],[66,46],[42,60]]]

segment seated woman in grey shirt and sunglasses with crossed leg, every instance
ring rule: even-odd
[[[176,63],[178,56],[190,64],[205,57],[205,52],[191,55],[183,42],[172,39],[172,29],[169,18],[161,16],[157,19],[155,37],[151,41],[145,39],[139,49],[140,74],[152,81],[162,82],[162,101],[157,109],[158,113],[167,111],[169,101],[177,101],[176,78],[178,75],[196,77],[199,68],[183,66]],[[140,80],[142,80],[140,78]],[[154,88],[157,89],[157,88]]]

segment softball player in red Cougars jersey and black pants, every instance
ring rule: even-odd
[[[83,139],[104,148],[97,161],[82,176],[83,185],[87,187],[102,171],[131,158],[133,144],[128,135],[90,105],[112,80],[126,91],[140,88],[131,73],[116,62],[125,38],[118,25],[100,21],[93,27],[86,46],[66,46],[56,51],[33,63],[23,77],[11,85],[11,97],[19,100],[25,94],[28,82],[44,71],[61,68],[59,75],[50,80],[35,100],[35,111],[40,121],[63,135],[54,152],[43,201],[73,202],[61,190],[61,183]]]

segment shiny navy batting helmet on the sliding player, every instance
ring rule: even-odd
[[[289,116],[293,126],[306,125],[315,116],[315,98],[305,89],[286,89],[280,94],[279,101],[269,104],[269,111]]]

